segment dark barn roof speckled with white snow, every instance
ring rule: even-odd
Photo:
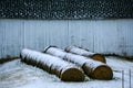
[[[0,0],[0,18],[133,19],[133,0]]]

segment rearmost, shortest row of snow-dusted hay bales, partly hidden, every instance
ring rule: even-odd
[[[103,55],[98,54],[98,53],[92,53],[88,50],[83,50],[83,48],[78,47],[78,46],[68,46],[68,47],[65,47],[65,52],[82,55],[82,56],[85,56],[85,57],[91,57],[95,61],[106,63],[105,57]]]

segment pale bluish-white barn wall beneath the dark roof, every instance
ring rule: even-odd
[[[48,45],[133,56],[133,20],[0,20],[0,58]]]

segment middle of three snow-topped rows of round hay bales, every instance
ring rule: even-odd
[[[84,57],[71,53],[66,53],[58,47],[49,46],[44,50],[45,53],[63,58],[64,61],[74,63],[82,67],[84,73],[95,79],[112,79],[113,72],[106,64],[93,61],[90,57]]]

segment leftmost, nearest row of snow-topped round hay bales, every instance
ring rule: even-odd
[[[50,74],[55,74],[64,81],[83,81],[84,74],[82,69],[74,64],[62,61],[59,57],[24,48],[21,51],[21,61],[38,66]]]

